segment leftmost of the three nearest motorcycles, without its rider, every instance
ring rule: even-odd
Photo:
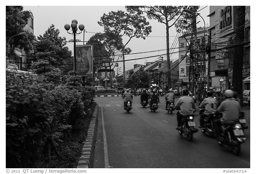
[[[182,127],[179,131],[179,134],[184,134],[189,141],[192,141],[193,134],[198,131],[198,129],[195,128],[196,124],[194,122],[194,115],[188,115],[181,119]]]

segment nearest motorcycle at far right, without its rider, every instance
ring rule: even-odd
[[[220,146],[227,146],[231,148],[233,154],[240,155],[241,143],[244,143],[247,139],[244,137],[244,129],[239,121],[232,121],[225,123],[223,126],[224,139],[217,138],[217,142]]]

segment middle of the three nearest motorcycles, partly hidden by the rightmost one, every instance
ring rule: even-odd
[[[200,109],[199,114],[203,114],[204,109]],[[208,133],[209,135],[215,137],[215,128],[214,128],[214,115],[210,114],[204,118],[204,128],[200,128],[203,134]]]

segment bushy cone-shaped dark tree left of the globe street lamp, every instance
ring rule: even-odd
[[[66,38],[59,36],[60,31],[51,25],[44,35],[37,37],[34,52],[31,54],[33,72],[43,74],[49,81],[60,81],[62,61],[71,57],[71,51],[65,46]]]

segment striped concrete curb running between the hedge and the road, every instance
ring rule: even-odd
[[[76,168],[93,168],[95,143],[97,139],[99,105],[96,104],[87,136]]]

